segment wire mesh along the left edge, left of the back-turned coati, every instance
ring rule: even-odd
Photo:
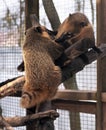
[[[0,7],[0,82],[21,75],[17,71],[17,65],[22,60],[21,44],[24,32],[24,12],[20,11],[19,0],[1,0]],[[20,8],[21,7],[21,8]],[[21,14],[22,13],[22,14]],[[26,111],[19,105],[19,98],[6,97],[0,100],[2,115],[5,117],[24,116]],[[25,127],[14,128],[24,130]]]

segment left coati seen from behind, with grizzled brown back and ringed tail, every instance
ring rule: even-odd
[[[21,106],[30,108],[51,99],[61,83],[61,70],[54,61],[63,52],[63,47],[53,40],[43,26],[26,31],[23,44],[25,84]]]

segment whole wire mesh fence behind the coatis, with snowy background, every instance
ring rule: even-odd
[[[24,0],[1,0],[0,7],[0,82],[16,77],[22,73],[17,71],[17,65],[22,61],[20,45],[24,40]],[[96,37],[96,0],[53,0],[60,21],[69,15],[80,11],[85,13],[94,26]],[[40,23],[51,29],[42,0],[39,0]],[[96,62],[86,66],[76,75],[77,89],[96,90]],[[60,89],[65,89],[60,85]],[[26,111],[19,106],[19,98],[6,97],[0,100],[4,116],[22,116]],[[95,115],[73,113],[58,110],[60,117],[55,121],[56,130],[95,130]],[[17,127],[24,130],[25,127]]]

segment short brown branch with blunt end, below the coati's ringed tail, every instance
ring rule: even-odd
[[[35,121],[41,120],[41,119],[48,120],[48,118],[51,118],[54,120],[57,117],[59,117],[59,114],[55,110],[49,110],[49,111],[45,111],[45,112],[39,112],[36,114],[28,115],[28,116],[6,117],[4,119],[8,124],[10,124],[13,127],[16,127],[16,126],[25,126],[25,125],[30,124],[33,121],[35,122]],[[5,127],[5,124],[3,123],[2,120],[0,120],[0,126]],[[11,129],[11,130],[13,130],[13,129]]]

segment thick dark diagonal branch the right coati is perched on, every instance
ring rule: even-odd
[[[66,81],[70,77],[72,77],[77,72],[81,71],[86,65],[91,64],[93,61],[97,60],[98,58],[102,58],[106,56],[106,45],[101,44],[99,47],[101,50],[101,54],[96,53],[94,50],[90,50],[89,52],[84,53],[85,57],[88,60],[86,64],[82,58],[77,57],[70,64],[62,69],[62,82]]]

